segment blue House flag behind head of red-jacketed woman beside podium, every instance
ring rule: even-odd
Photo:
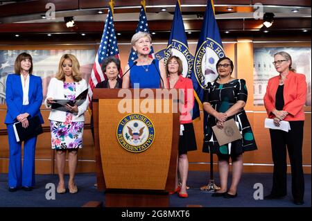
[[[164,64],[166,64],[166,61],[171,55],[175,55],[182,60],[183,77],[189,78],[191,76],[191,69],[193,67],[194,57],[193,55],[191,55],[191,53],[189,53],[187,35],[184,29],[179,1],[177,1],[175,5],[175,15],[173,17],[171,33],[165,52]]]

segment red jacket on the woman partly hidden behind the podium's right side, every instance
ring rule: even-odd
[[[169,78],[167,78],[167,82],[169,85]],[[189,78],[184,78],[182,74],[179,76],[179,79],[175,83],[175,89],[183,89],[180,93],[184,94],[184,100],[182,100],[182,105],[180,107],[180,123],[192,123],[191,111],[194,106],[194,90],[193,90],[193,82]]]

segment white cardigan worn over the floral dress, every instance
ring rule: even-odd
[[[85,89],[87,89],[87,82],[85,79],[80,80],[80,82],[75,82],[76,84],[76,97]],[[46,100],[44,100],[44,105],[50,108],[51,105],[48,105],[47,98],[53,98],[55,100],[64,99],[64,82],[62,80],[58,80],[56,78],[52,78],[49,83],[48,93],[46,94]],[[89,105],[89,99],[87,98],[85,102],[78,106],[78,114],[74,115],[72,121],[85,121],[85,111],[87,110]],[[49,120],[51,121],[59,121],[65,122],[66,121],[66,112],[61,112],[59,110],[51,109]]]

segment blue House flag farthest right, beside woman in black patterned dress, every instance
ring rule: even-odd
[[[202,106],[202,101],[204,100],[205,85],[207,85],[207,82],[212,82],[218,77],[216,62],[224,56],[225,53],[223,51],[218,24],[214,17],[211,1],[208,0],[191,71],[191,80],[193,81],[193,87],[196,92],[193,119],[200,116],[199,105]]]

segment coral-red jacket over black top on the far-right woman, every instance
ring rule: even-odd
[[[274,118],[272,110],[275,109],[275,96],[279,87],[279,76],[268,80],[264,106],[269,118]],[[290,71],[284,81],[284,107],[288,112],[284,121],[304,121],[304,104],[306,103],[306,76],[302,73]]]

